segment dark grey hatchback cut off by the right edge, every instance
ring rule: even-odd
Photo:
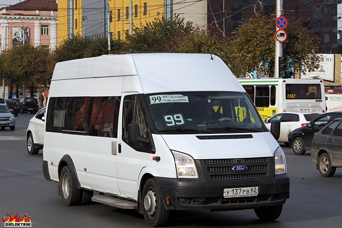
[[[315,134],[311,156],[324,177],[333,176],[336,167],[342,167],[342,118],[334,119]]]

